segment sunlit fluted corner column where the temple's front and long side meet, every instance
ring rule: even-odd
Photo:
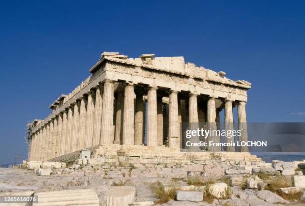
[[[102,106],[102,123],[100,144],[112,144],[113,132],[113,97],[114,84],[111,80],[105,80]]]

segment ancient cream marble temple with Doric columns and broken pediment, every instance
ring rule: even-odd
[[[91,75],[70,94],[61,95],[43,120],[28,124],[30,161],[45,161],[95,145],[142,145],[179,151],[181,122],[246,122],[247,90],[251,84],[233,81],[183,57],[143,54],[128,58],[104,52]],[[244,133],[242,140],[247,139]],[[207,148],[219,151],[219,148]],[[226,148],[234,151],[234,148]],[[246,152],[247,148],[241,151]]]

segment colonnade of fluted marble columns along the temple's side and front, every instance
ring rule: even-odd
[[[124,91],[118,91],[116,101],[116,119],[114,124],[114,82],[104,81],[86,96],[60,112],[53,119],[36,131],[31,138],[30,160],[48,160],[83,148],[98,144],[141,145],[145,138],[145,114],[147,116],[147,145],[163,144],[162,97],[157,96],[157,87],[149,87],[147,93],[147,113],[143,91],[136,92],[132,83],[125,84]],[[188,99],[188,121],[198,123],[197,95],[190,94]],[[178,103],[178,92],[169,91],[168,103],[168,146],[179,148],[179,123],[182,115]],[[86,106],[87,105],[87,106]],[[185,104],[184,104],[185,105]],[[225,100],[225,127],[233,126],[232,101]],[[217,116],[218,115],[218,116]],[[216,111],[215,97],[207,101],[206,121],[211,128],[216,128],[219,113]],[[238,121],[246,122],[245,103],[238,104]],[[244,125],[243,125],[244,126]],[[242,140],[247,139],[247,134]],[[210,137],[220,142],[220,137]],[[230,140],[226,140],[230,141]],[[219,148],[207,148],[219,151]],[[234,151],[228,147],[226,151]]]

